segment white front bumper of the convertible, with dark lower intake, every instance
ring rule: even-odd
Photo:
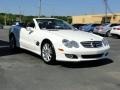
[[[68,61],[68,62],[79,62],[79,61],[90,61],[107,58],[110,47],[106,48],[86,48],[86,49],[71,49],[65,50],[64,52],[58,51],[56,54],[57,61]],[[67,55],[75,55],[77,58],[68,58]]]

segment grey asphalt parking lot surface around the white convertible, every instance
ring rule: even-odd
[[[120,39],[107,39],[109,59],[47,65],[31,52],[12,52],[1,29],[0,90],[120,90]]]

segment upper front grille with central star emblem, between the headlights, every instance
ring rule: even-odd
[[[102,41],[85,41],[81,42],[85,48],[99,48],[102,47]]]

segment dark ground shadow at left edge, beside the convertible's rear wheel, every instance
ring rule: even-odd
[[[21,53],[20,50],[13,51],[9,48],[9,42],[0,40],[0,57]]]

